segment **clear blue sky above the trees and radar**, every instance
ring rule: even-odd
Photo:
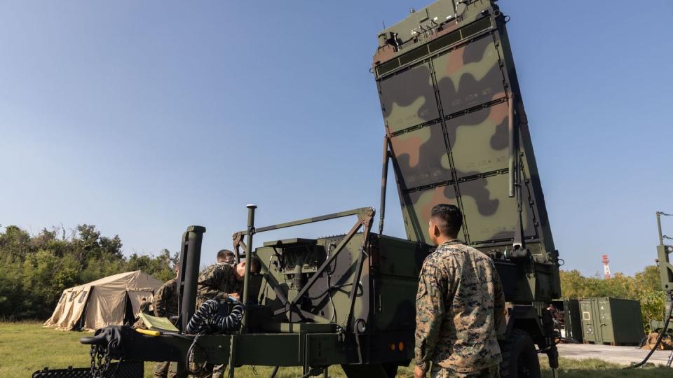
[[[204,225],[205,265],[247,203],[257,225],[378,207],[376,33],[427,4],[2,1],[0,224],[93,224],[127,254],[177,251]],[[499,4],[566,268],[652,264],[655,211],[673,212],[673,2]]]

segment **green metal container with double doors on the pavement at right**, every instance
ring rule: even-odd
[[[580,301],[585,344],[637,345],[645,335],[640,302],[611,297]]]

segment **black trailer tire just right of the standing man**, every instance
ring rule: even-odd
[[[513,329],[503,345],[500,375],[507,378],[540,378],[540,361],[533,340],[524,330]]]

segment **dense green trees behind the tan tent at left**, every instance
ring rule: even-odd
[[[37,235],[7,226],[0,232],[0,319],[46,319],[64,289],[111,274],[142,270],[163,281],[172,278],[177,253],[127,257],[121,247],[117,235],[102,236],[94,225]]]

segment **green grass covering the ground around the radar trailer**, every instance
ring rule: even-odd
[[[51,368],[86,367],[90,364],[89,348],[79,344],[79,338],[90,335],[87,332],[61,332],[43,328],[39,323],[0,323],[0,377],[30,377],[32,372],[48,366]],[[543,377],[551,377],[545,369],[546,357],[541,358]],[[145,364],[145,377],[152,377],[154,363]],[[245,366],[236,370],[236,377],[268,377],[271,368]],[[299,368],[284,367],[278,372],[279,378],[301,376]],[[329,369],[330,377],[344,377],[341,367]],[[646,367],[639,370],[623,370],[620,365],[604,363],[601,360],[561,359],[559,377],[580,378],[660,378],[673,377],[673,370],[664,367]],[[400,369],[397,377],[413,377],[412,369]]]

